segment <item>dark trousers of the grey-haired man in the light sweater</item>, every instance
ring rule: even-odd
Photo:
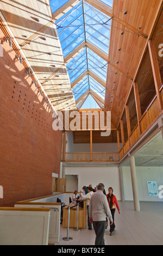
[[[95,245],[105,245],[104,234],[105,234],[106,221],[93,221],[93,228],[95,229],[96,240]]]

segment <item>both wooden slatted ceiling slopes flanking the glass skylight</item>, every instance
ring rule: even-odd
[[[72,5],[75,4],[74,0],[70,2]],[[87,0],[86,2],[92,5],[98,3],[99,6],[97,0]],[[137,37],[134,32],[148,35],[159,3],[158,0],[114,0],[112,14],[118,19],[112,20],[109,57],[107,58],[110,64],[108,65],[105,96],[105,110],[111,110],[111,120],[114,127],[117,127],[120,121],[122,109],[124,109],[124,103],[132,84],[132,81],[125,77],[125,74],[131,78],[135,76],[137,65],[146,44],[146,39],[142,36]],[[50,23],[52,14],[48,0],[45,0],[45,2],[26,0],[23,3],[18,0],[4,0],[0,2],[0,7],[18,43],[23,45],[23,51],[34,67],[36,75],[43,83],[43,87],[52,103],[54,103],[54,107],[60,110],[64,109],[66,105],[71,105],[72,109],[76,109],[56,28],[55,25]],[[103,8],[103,4],[101,4],[101,7]],[[124,15],[124,10],[127,10],[127,15]],[[36,18],[39,19],[39,22],[36,21]],[[159,31],[161,25],[160,22],[158,25]],[[129,29],[130,26],[132,26],[132,29]],[[42,32],[37,34],[36,32],[40,29],[42,29]],[[121,35],[121,31],[124,32],[123,35]],[[28,36],[28,38],[33,36],[31,45],[24,44],[26,42],[25,36]],[[43,40],[44,37],[46,37],[46,41]],[[118,51],[118,48],[121,48],[121,51]],[[52,52],[51,56],[49,56],[49,52]],[[55,68],[52,65],[55,65]],[[123,71],[123,73],[118,70]],[[60,77],[54,75],[56,71],[59,72]],[[115,72],[117,72],[116,75]],[[114,81],[115,83],[113,83]],[[58,83],[64,84],[64,87],[60,88]],[[111,92],[114,92],[115,97],[111,97],[113,95]],[[111,108],[109,108],[110,101],[112,101]],[[134,117],[134,113],[131,113],[131,116]]]

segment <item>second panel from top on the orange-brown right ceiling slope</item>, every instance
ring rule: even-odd
[[[123,32],[123,35],[121,32]],[[145,44],[145,38],[137,36],[130,29],[112,20],[109,61],[132,79]],[[119,51],[119,49],[121,50]]]

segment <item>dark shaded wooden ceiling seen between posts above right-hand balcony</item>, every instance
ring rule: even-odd
[[[158,63],[160,66],[160,72],[162,70],[162,65],[163,65],[163,56],[162,57],[159,56],[159,50],[160,50],[159,45],[162,42],[162,32],[163,32],[162,24],[163,24],[163,11],[160,14],[158,26],[156,27],[156,30],[153,35],[155,48],[158,49],[157,57],[158,57]],[[162,76],[162,83],[163,83],[163,76]],[[147,107],[149,106],[149,103],[153,100],[156,94],[151,60],[150,60],[148,50],[145,54],[145,57],[143,58],[143,62],[139,70],[139,73],[137,74],[137,87],[139,89],[139,95],[140,95],[139,98],[140,98],[140,105],[141,105],[140,106],[141,114],[143,114],[146,111]],[[128,106],[129,106],[129,113],[130,113],[130,125],[131,125],[131,131],[132,131],[137,124],[134,88],[131,90],[130,97],[128,99]],[[123,126],[125,131],[125,140],[127,140],[128,137],[127,137],[126,112],[123,113],[122,120],[123,120]],[[120,129],[120,126],[118,129]],[[120,136],[121,136],[121,133],[120,133]]]

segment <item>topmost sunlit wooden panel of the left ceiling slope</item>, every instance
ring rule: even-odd
[[[4,0],[0,2],[0,7],[19,44],[52,19],[48,4],[39,0]]]

